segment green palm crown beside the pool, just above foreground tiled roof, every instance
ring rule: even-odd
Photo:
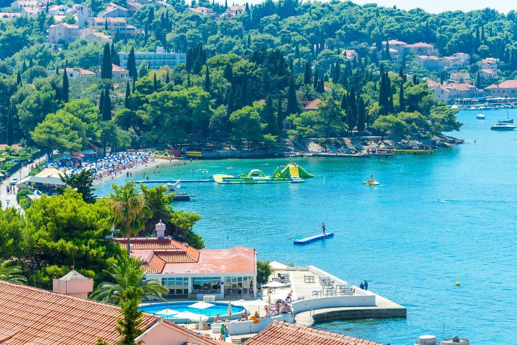
[[[111,264],[109,271],[104,270],[112,281],[104,281],[90,297],[100,302],[120,304],[124,299],[124,292],[131,291],[131,295],[138,300],[145,299],[151,302],[149,297],[162,299],[162,294],[167,288],[156,279],[143,280],[145,272],[142,271],[143,261],[135,257],[120,255],[117,262]]]

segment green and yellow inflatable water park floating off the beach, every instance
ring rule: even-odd
[[[270,184],[270,183],[303,183],[305,179],[312,178],[301,166],[292,163],[287,164],[282,170],[279,167],[269,176],[264,175],[259,169],[253,169],[248,175],[241,173],[238,176],[228,174],[214,175],[214,181],[219,184]]]

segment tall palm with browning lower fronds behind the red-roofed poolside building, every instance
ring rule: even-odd
[[[113,217],[111,223],[127,238],[128,257],[131,253],[131,235],[137,236],[145,229],[144,219],[149,218],[151,210],[145,203],[143,195],[136,190],[134,181],[127,181],[123,186],[112,185],[114,194],[110,194],[109,203]]]

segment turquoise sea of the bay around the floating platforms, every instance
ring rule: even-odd
[[[256,248],[262,260],[312,264],[356,285],[367,279],[370,290],[407,308],[407,319],[317,327],[397,345],[422,334],[441,339],[443,332],[473,344],[512,342],[517,339],[517,131],[490,130],[506,110],[484,113],[486,120],[477,120],[473,111],[459,113],[464,126],[451,135],[465,144],[432,155],[296,159],[315,176],[305,184],[185,183],[197,197],[174,207],[203,216],[195,230],[208,248],[244,245]],[[517,123],[515,109],[512,116]],[[287,163],[200,161],[147,174],[204,178],[252,168],[270,174]],[[234,169],[226,169],[230,166]],[[362,185],[371,174],[380,186]],[[112,182],[98,185],[97,193],[107,194]],[[318,233],[322,222],[336,233],[333,239],[296,247],[287,240]]]

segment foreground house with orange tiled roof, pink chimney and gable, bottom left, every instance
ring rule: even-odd
[[[55,292],[0,280],[0,343],[95,345],[121,339],[115,330],[120,307],[85,298],[92,279],[71,271],[54,279]],[[153,345],[223,345],[161,317],[144,313],[135,339]]]

